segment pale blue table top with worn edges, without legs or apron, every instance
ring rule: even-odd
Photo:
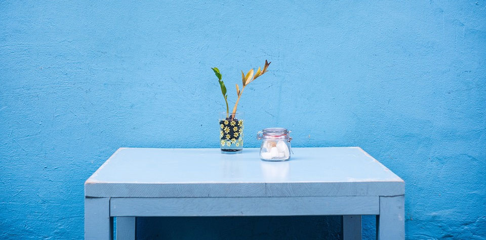
[[[85,183],[90,197],[396,196],[404,182],[358,147],[293,148],[287,162],[259,149],[118,149]]]

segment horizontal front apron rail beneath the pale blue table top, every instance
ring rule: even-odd
[[[378,196],[110,199],[112,217],[378,214]]]

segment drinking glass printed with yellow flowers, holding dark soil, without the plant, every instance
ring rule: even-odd
[[[243,113],[219,114],[219,140],[222,154],[243,152]]]

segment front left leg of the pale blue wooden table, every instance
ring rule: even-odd
[[[85,198],[85,239],[113,239],[110,198]]]

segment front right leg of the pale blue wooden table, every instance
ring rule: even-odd
[[[380,197],[376,236],[384,239],[405,239],[405,197]]]

